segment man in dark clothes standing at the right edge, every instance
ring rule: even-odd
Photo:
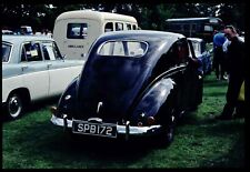
[[[224,36],[231,41],[227,52],[229,83],[226,95],[227,103],[222,113],[216,118],[219,120],[230,120],[233,117],[234,109],[238,111],[238,95],[246,74],[244,42],[239,39],[232,26],[224,28]]]

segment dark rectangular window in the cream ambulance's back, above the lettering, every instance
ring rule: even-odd
[[[84,39],[88,36],[88,23],[68,23],[67,38]]]

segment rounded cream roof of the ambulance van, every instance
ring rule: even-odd
[[[64,20],[64,19],[92,19],[92,20],[120,20],[137,23],[136,18],[126,14],[118,14],[111,12],[101,12],[101,11],[92,11],[92,10],[76,10],[76,11],[67,11],[61,13],[56,21]]]

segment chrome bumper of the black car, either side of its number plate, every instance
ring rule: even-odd
[[[63,120],[61,118],[57,118],[52,115],[50,121],[54,125],[63,127],[63,128],[72,128],[72,120]],[[66,123],[66,124],[64,124]],[[159,131],[161,125],[151,125],[151,127],[130,127],[130,125],[117,125],[118,134],[126,134],[126,135],[148,135]]]

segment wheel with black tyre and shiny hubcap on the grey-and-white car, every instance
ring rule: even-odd
[[[20,118],[24,110],[24,102],[19,93],[11,93],[7,100],[7,118],[14,120]]]

